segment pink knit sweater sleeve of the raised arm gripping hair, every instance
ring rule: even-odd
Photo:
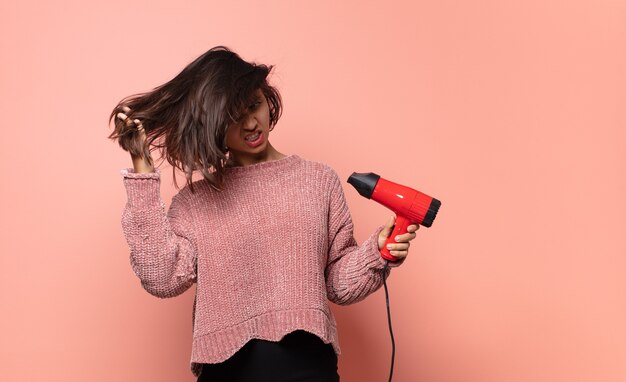
[[[122,170],[128,201],[122,230],[130,248],[130,263],[150,294],[177,296],[196,281],[196,246],[190,214],[181,193],[168,212],[160,195],[160,171]]]

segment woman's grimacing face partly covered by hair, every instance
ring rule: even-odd
[[[238,123],[226,130],[226,145],[231,157],[239,164],[266,160],[270,133],[270,109],[261,89]]]

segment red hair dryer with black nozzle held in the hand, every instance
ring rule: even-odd
[[[368,172],[367,174],[352,173],[348,178],[356,190],[368,199],[374,199],[396,214],[396,224],[393,232],[387,238],[385,246],[380,250],[381,256],[389,261],[396,261],[387,244],[395,243],[395,237],[407,233],[411,224],[420,224],[430,227],[437,216],[441,202],[410,187],[390,182],[380,176]]]

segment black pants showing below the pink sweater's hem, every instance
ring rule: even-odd
[[[254,339],[231,358],[204,364],[197,382],[339,382],[332,345],[305,331],[280,342]]]

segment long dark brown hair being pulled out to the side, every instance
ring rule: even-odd
[[[108,138],[133,155],[148,158],[159,149],[161,157],[185,174],[193,191],[192,174],[200,171],[209,184],[221,189],[228,159],[226,129],[246,112],[254,93],[261,89],[270,109],[270,130],[282,112],[282,101],[267,76],[273,66],[244,61],[224,46],[216,46],[187,65],[169,82],[146,93],[122,99],[111,112],[115,129]],[[135,126],[116,118],[125,113],[139,119],[146,133],[142,145]],[[178,184],[176,184],[178,187]]]

